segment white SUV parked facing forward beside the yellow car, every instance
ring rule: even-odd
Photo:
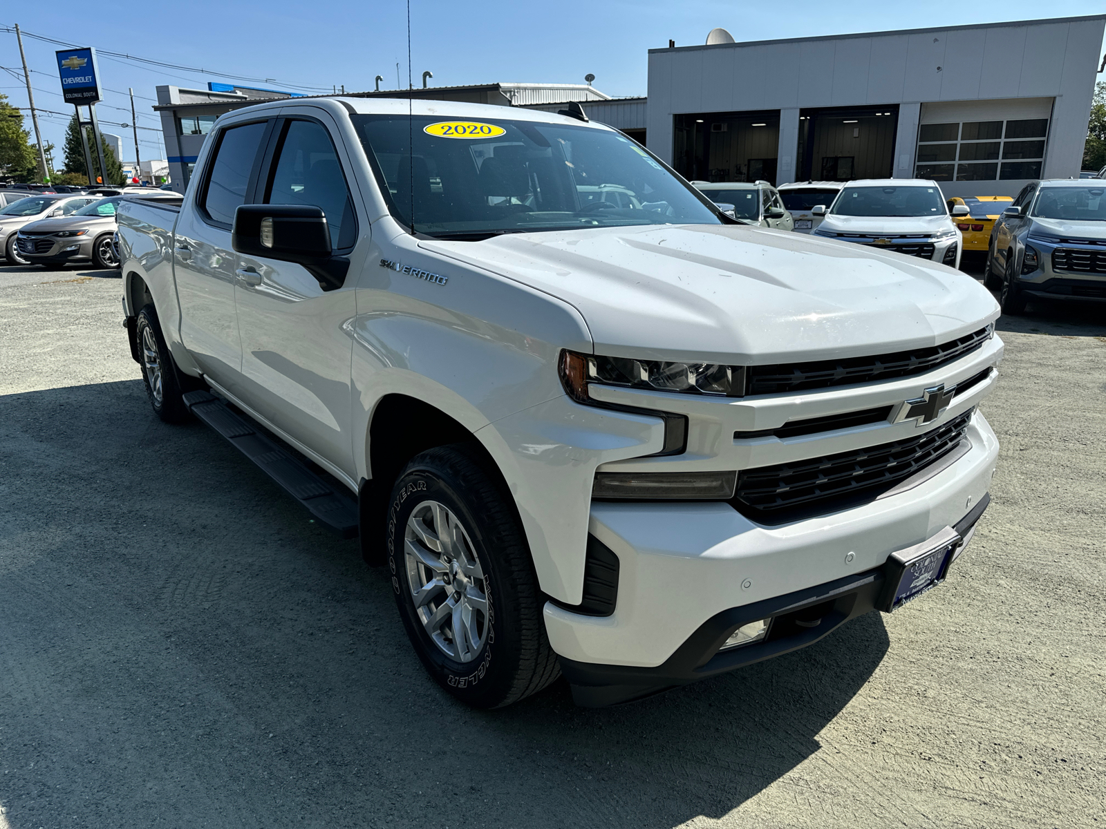
[[[812,212],[824,217],[812,235],[960,266],[963,241],[952,217],[967,216],[968,208],[958,204],[950,216],[936,181],[849,181],[828,209],[817,206]]]

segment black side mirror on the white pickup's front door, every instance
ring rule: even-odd
[[[322,208],[300,204],[241,204],[234,211],[230,244],[238,253],[295,262],[323,291],[345,283],[349,260],[331,254],[331,229]]]

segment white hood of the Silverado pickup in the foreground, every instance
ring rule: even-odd
[[[864,356],[937,345],[999,315],[991,294],[951,267],[762,228],[419,244],[572,304],[596,353],[612,356],[750,365]]]

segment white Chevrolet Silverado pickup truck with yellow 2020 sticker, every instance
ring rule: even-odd
[[[118,243],[154,411],[359,536],[446,690],[623,702],[945,579],[998,455],[981,285],[737,224],[578,107],[408,106],[225,115]]]

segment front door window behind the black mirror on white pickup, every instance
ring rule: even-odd
[[[331,230],[332,248],[353,246],[357,239],[342,165],[330,134],[316,122],[285,123],[264,203],[321,208]]]

